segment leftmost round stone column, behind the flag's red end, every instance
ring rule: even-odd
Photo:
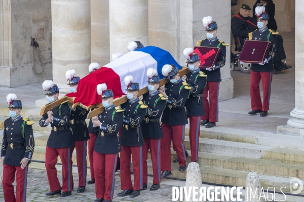
[[[80,78],[91,64],[90,0],[52,0],[53,81],[68,90],[65,72],[74,69]]]

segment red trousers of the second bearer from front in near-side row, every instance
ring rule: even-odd
[[[131,155],[134,174],[134,186],[131,180]],[[122,146],[121,151],[121,189],[142,189],[142,146]]]

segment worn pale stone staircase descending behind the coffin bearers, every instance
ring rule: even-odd
[[[7,111],[0,109],[0,121],[5,120],[7,117],[4,116],[6,115]],[[23,111],[23,116],[34,121],[35,151],[32,159],[44,162],[50,127],[41,128],[39,126],[40,108]],[[184,145],[189,154],[187,157],[187,164],[189,164],[191,151],[187,127]],[[2,138],[2,130],[0,134],[0,138]],[[294,134],[273,134],[224,127],[211,129],[201,127],[198,163],[201,168],[202,180],[211,184],[245,187],[248,173],[254,171],[259,174],[264,189],[275,186],[286,187],[282,188],[283,192],[290,193],[290,178],[304,179],[303,140],[303,137]],[[171,149],[171,160],[174,158],[176,158],[176,154]],[[75,151],[72,161],[76,164]],[[58,163],[60,163],[60,158]],[[153,174],[150,160],[148,160],[148,174]],[[178,171],[178,163],[172,163],[170,178],[186,179],[186,171]],[[304,181],[302,182],[304,183]],[[276,188],[276,191],[280,188]],[[274,189],[270,188],[270,190]],[[304,195],[304,190],[300,194]],[[302,197],[299,198],[302,199]],[[301,199],[294,201],[301,201]],[[286,201],[288,201],[288,196]]]

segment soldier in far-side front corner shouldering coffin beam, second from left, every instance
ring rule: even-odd
[[[44,81],[42,87],[47,91],[46,95],[48,95],[49,100],[47,105],[59,99],[59,88],[53,84],[52,80]],[[70,114],[71,109],[68,101],[65,101],[59,107],[43,114],[39,121],[41,127],[47,127],[49,124],[52,127],[47,142],[45,162],[51,189],[50,192],[46,193],[48,196],[60,194],[61,197],[65,197],[72,194],[71,147],[75,146],[75,143],[69,129]],[[58,156],[60,156],[62,163],[62,193],[55,168]]]

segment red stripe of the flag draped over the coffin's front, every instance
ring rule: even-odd
[[[98,84],[105,83],[107,89],[111,89],[114,98],[124,95],[121,86],[121,78],[111,68],[101,67],[80,79],[77,93],[69,93],[66,96],[75,96],[74,103],[81,103],[85,106],[101,103],[100,95],[96,91]]]

